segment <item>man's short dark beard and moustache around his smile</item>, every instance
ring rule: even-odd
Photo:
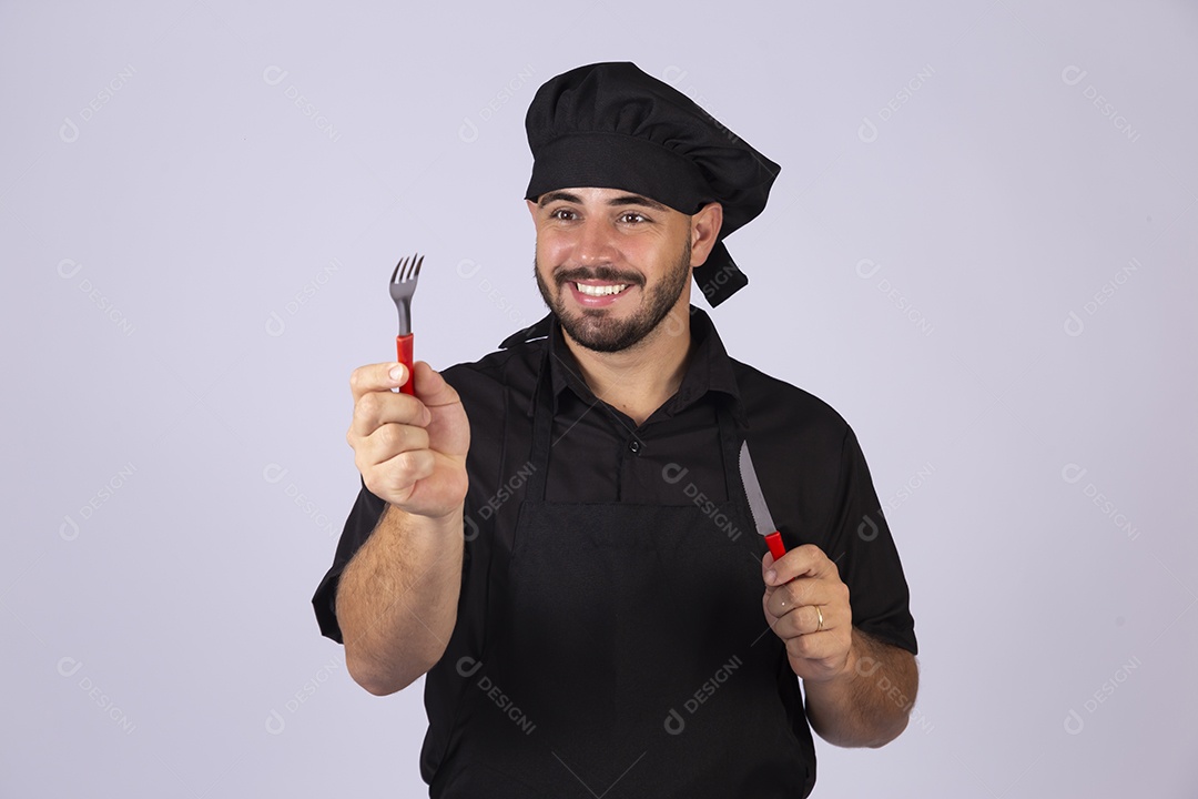
[[[605,266],[580,267],[563,270],[551,276],[557,287],[555,292],[540,277],[536,256],[533,258],[533,274],[545,304],[553,311],[553,315],[562,323],[562,329],[569,333],[571,339],[595,352],[619,352],[643,341],[678,303],[683,289],[686,287],[686,282],[690,280],[690,237],[686,237],[683,253],[673,267],[666,271],[661,280],[653,286],[646,286],[645,278],[640,274],[619,272]],[[640,307],[627,319],[615,319],[606,308],[568,313],[564,298],[565,291],[568,291],[565,284],[588,279],[640,286],[643,293]]]

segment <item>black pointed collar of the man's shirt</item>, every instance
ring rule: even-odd
[[[582,379],[582,371],[579,369],[574,353],[565,345],[561,325],[557,323],[557,319],[552,314],[521,333],[524,334],[521,335],[522,340],[540,337],[547,339],[546,359],[555,413],[557,412],[558,398],[564,391],[573,392],[583,402],[593,404],[597,401],[594,393]],[[670,416],[680,413],[714,392],[728,398],[737,423],[745,424],[740,388],[732,369],[732,358],[724,349],[724,341],[720,340],[710,317],[694,305],[690,307],[690,337],[695,345],[690,365],[686,368],[678,392],[666,401],[665,412]],[[504,341],[504,344],[508,343]],[[528,405],[530,416],[532,416],[534,404],[536,399]]]

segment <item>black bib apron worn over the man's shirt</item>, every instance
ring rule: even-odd
[[[547,382],[544,369],[534,470],[510,551],[495,544],[483,652],[455,664],[467,684],[432,794],[806,797],[811,732],[762,613],[766,545],[731,413],[720,405],[728,500],[714,510],[546,502]]]

